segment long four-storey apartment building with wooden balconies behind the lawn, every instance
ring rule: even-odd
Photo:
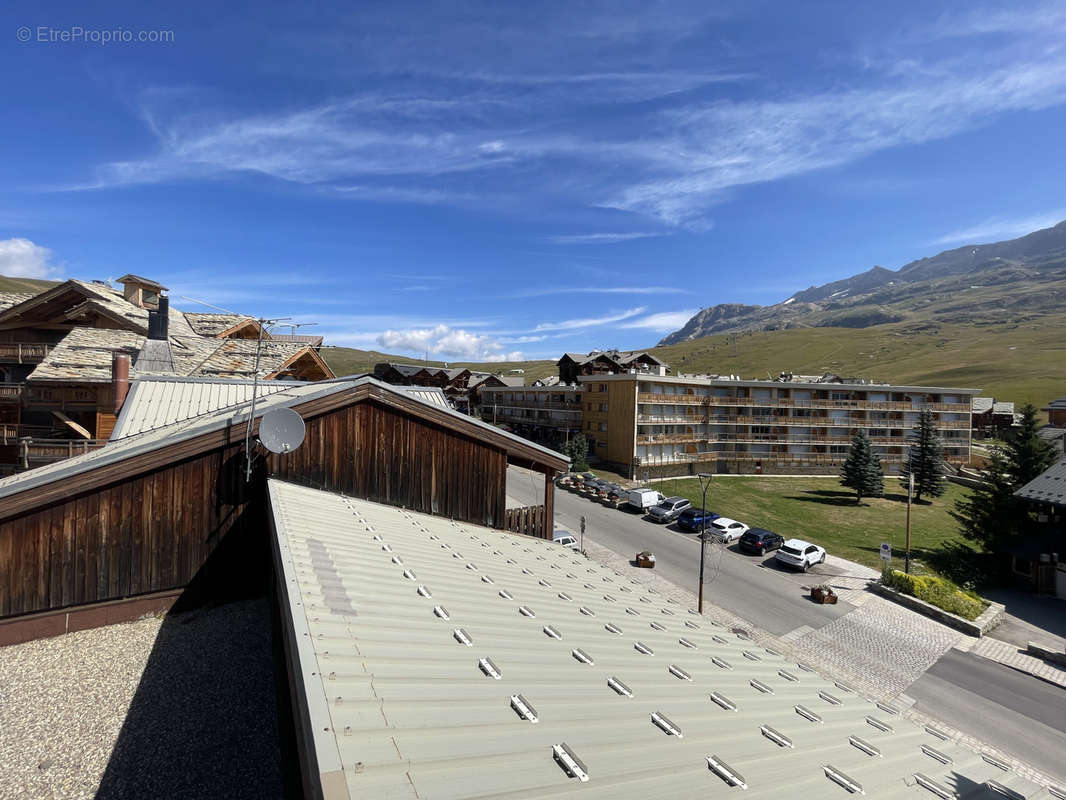
[[[839,470],[862,429],[887,474],[898,473],[919,413],[935,414],[950,464],[970,458],[970,405],[978,389],[893,386],[836,375],[598,374],[584,387],[589,452],[642,478],[694,471],[827,474]]]

